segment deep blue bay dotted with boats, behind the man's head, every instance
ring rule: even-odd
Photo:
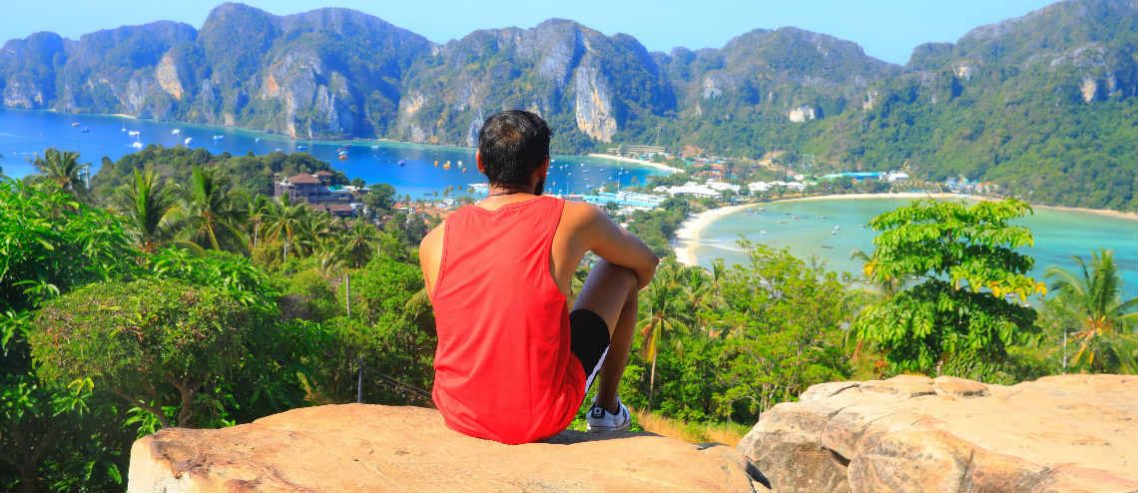
[[[77,125],[73,126],[74,124]],[[134,137],[131,132],[138,132],[138,135]],[[486,181],[475,165],[475,149],[464,147],[378,140],[294,140],[231,128],[119,116],[0,109],[0,167],[13,178],[33,173],[35,170],[30,161],[48,147],[79,151],[80,159],[91,163],[94,173],[104,156],[117,159],[133,153],[137,150],[131,147],[134,142],[173,147],[184,146],[185,139],[192,139],[189,147],[204,148],[214,154],[305,151],[331,163],[348,178],[361,178],[368,183],[390,183],[401,195],[412,197],[422,197],[446,187],[462,188]],[[348,150],[345,161],[337,159],[340,148]],[[451,170],[444,170],[448,161]],[[553,156],[553,164],[545,189],[558,194],[587,192],[612,182],[627,186],[661,173],[654,169],[582,156]],[[460,170],[462,166],[467,167],[465,173]]]

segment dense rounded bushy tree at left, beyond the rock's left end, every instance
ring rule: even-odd
[[[105,282],[44,304],[28,339],[44,380],[90,378],[163,427],[192,427],[208,422],[198,417],[211,412],[211,391],[245,354],[253,318],[250,307],[213,288]]]

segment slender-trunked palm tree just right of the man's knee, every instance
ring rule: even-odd
[[[657,271],[655,278],[644,293],[644,311],[648,317],[642,318],[640,323],[641,337],[644,345],[641,346],[642,355],[652,361],[652,369],[648,380],[648,408],[652,409],[652,392],[655,387],[655,360],[659,355],[660,342],[666,332],[675,330],[688,330],[692,322],[692,311],[684,303],[688,293],[684,286],[679,264],[673,261],[666,262]]]

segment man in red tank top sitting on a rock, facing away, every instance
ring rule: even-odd
[[[636,326],[636,294],[659,260],[599,208],[542,196],[549,125],[497,113],[478,135],[489,196],[423,238],[419,261],[435,307],[435,404],[447,426],[517,444],[572,421],[600,372],[591,432],[626,429],[617,396]],[[601,260],[569,310],[586,252]]]

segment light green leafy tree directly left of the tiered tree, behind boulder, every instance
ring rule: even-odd
[[[838,276],[786,250],[747,241],[748,262],[723,273],[716,323],[731,329],[716,353],[715,414],[753,422],[807,387],[849,376],[842,352],[846,288]]]

